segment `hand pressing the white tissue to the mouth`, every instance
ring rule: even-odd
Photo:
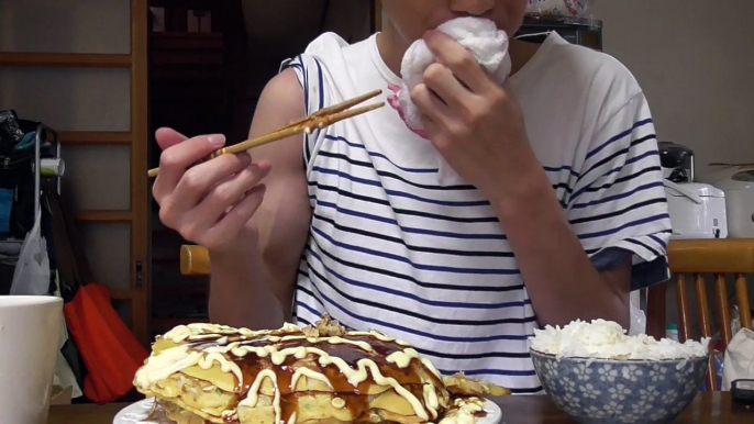
[[[424,41],[437,63],[411,99],[448,165],[492,200],[536,164],[521,108],[508,82],[500,87],[453,38],[431,31]]]

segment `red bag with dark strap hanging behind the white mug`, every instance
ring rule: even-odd
[[[110,289],[93,282],[73,220],[54,191],[49,204],[58,269],[68,293],[63,311],[88,370],[84,394],[99,404],[113,402],[133,390],[134,375],[148,354],[112,306]]]

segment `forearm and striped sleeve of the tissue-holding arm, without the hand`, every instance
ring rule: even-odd
[[[520,182],[492,198],[541,323],[605,319],[629,330],[631,291],[669,278],[670,220],[651,116],[641,92],[601,116],[565,210],[531,158]]]

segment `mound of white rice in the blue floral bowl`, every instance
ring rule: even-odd
[[[705,357],[709,354],[709,342],[657,341],[646,334],[629,336],[618,323],[595,320],[574,321],[562,328],[547,325],[534,330],[531,348],[558,358],[666,360]]]

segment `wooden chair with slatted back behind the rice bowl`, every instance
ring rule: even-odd
[[[731,308],[728,295],[728,277],[735,281],[735,297],[739,306],[741,325],[752,328],[751,302],[746,277],[754,275],[754,239],[710,239],[710,241],[674,241],[668,247],[670,272],[676,282],[678,305],[678,327],[681,342],[694,337],[691,305],[689,304],[689,286],[694,287],[697,298],[699,334],[712,337],[712,317],[707,289],[714,284],[714,298],[718,309],[720,341],[723,349],[728,347],[731,334]],[[657,284],[647,294],[647,333],[656,338],[665,337],[665,301],[667,283]],[[717,367],[710,362],[707,375],[707,387],[719,390]]]

